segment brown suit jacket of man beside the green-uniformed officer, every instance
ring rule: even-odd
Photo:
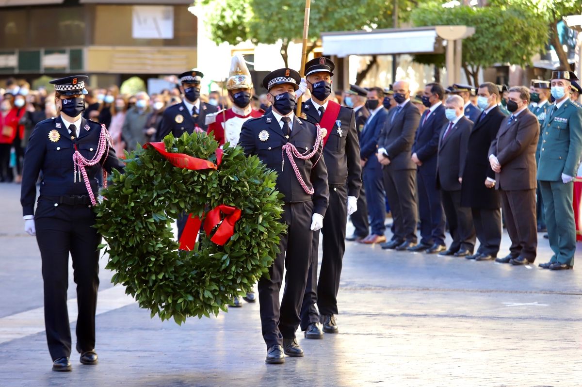
[[[489,154],[495,155],[501,164],[501,173],[495,173],[495,189],[535,189],[535,149],[540,136],[540,123],[528,109],[521,111],[508,124],[510,119],[511,116],[503,120],[489,148]]]

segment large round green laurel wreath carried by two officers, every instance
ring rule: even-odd
[[[216,164],[218,143],[205,133],[164,139],[166,151]],[[173,166],[153,148],[127,155],[125,173],[113,172],[95,206],[96,228],[107,244],[113,283],[126,286],[140,307],[173,318],[217,315],[235,295],[250,291],[278,253],[286,226],[276,172],[240,147],[224,148],[217,170],[191,171]],[[171,223],[187,212],[201,216],[226,204],[242,210],[235,232],[219,246],[200,233],[193,251],[178,250]]]

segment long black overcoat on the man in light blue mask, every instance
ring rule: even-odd
[[[484,118],[478,118],[469,136],[467,158],[463,173],[461,205],[463,207],[495,210],[501,207],[501,197],[494,189],[485,186],[487,177],[495,180],[495,172],[489,163],[489,147],[505,115],[494,106]]]

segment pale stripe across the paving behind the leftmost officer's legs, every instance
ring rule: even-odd
[[[97,294],[97,315],[119,309],[136,301],[116,285]],[[77,299],[67,300],[69,322],[77,320]],[[44,307],[0,318],[0,344],[44,332]]]

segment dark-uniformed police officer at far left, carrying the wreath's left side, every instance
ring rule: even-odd
[[[44,317],[52,370],[70,371],[71,335],[67,311],[69,253],[77,284],[77,346],[83,364],[97,364],[95,307],[99,286],[101,235],[93,228],[91,206],[103,169],[122,169],[111,136],[100,124],[81,116],[87,76],[51,81],[59,116],[39,122],[30,136],[22,176],[25,226],[36,235],[42,258]],[[73,161],[75,154],[76,162]],[[103,168],[103,169],[102,169]],[[87,179],[81,173],[85,169]],[[36,182],[42,172],[36,211]]]

